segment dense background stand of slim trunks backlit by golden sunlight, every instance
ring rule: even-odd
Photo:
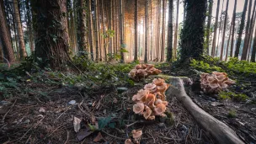
[[[55,22],[44,18],[46,11],[55,11],[52,5],[58,3],[61,3],[61,12],[57,12],[62,14],[61,18]],[[237,1],[232,2],[232,6],[228,0],[205,4],[204,54],[220,57],[223,61],[233,56],[255,61],[255,2],[244,1],[243,11],[236,10]],[[169,61],[168,55],[171,55],[174,61],[179,59],[182,48],[180,34],[188,15],[185,8],[185,2],[179,0],[67,0],[45,3],[45,6],[41,6],[40,1],[3,0],[1,20],[7,27],[2,28],[5,38],[1,39],[1,61],[3,57],[12,62],[34,51],[36,54],[37,49],[40,51],[37,42],[40,38],[46,39],[40,30],[48,32],[45,26],[56,27],[58,23],[62,24],[63,34],[52,33],[47,39],[59,43],[58,39],[66,35],[63,42],[73,56],[85,51],[93,61]],[[232,15],[228,14],[231,9]],[[241,5],[238,9],[242,9]],[[47,24],[43,20],[51,22]],[[168,43],[170,33],[172,43]]]

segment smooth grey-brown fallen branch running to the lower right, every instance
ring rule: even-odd
[[[213,116],[206,113],[203,109],[200,109],[192,99],[189,98],[184,89],[183,80],[179,77],[171,77],[170,82],[172,86],[168,89],[167,96],[175,96],[180,103],[184,105],[184,108],[189,111],[189,114],[194,117],[196,122],[200,124],[206,132],[213,136],[217,143],[225,144],[242,144],[242,140],[238,138],[235,131],[225,125],[220,120],[217,120]]]

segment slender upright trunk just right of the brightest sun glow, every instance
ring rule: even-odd
[[[145,0],[145,55],[144,62],[147,63],[147,38],[148,38],[148,1]],[[165,1],[165,0],[164,0]]]

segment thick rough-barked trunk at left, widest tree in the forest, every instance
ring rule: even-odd
[[[66,69],[68,55],[66,0],[37,0],[35,56],[41,58],[40,67],[50,64],[54,70]],[[56,23],[58,22],[58,23]],[[55,36],[52,36],[55,35]]]

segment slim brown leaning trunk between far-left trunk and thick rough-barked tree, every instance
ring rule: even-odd
[[[26,47],[24,43],[22,24],[19,17],[18,0],[13,0],[13,13],[14,13],[14,19],[15,19],[15,23],[17,25],[17,31],[18,31],[20,58],[23,59],[25,56],[27,56],[27,53],[26,53]]]

